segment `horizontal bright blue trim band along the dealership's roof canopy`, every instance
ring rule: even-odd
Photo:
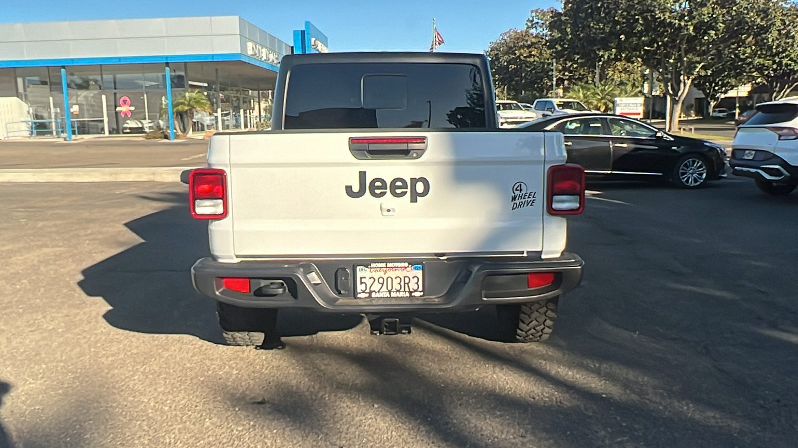
[[[279,71],[277,65],[260,61],[241,53],[218,54],[176,54],[169,56],[124,56],[124,57],[77,57],[64,59],[19,59],[0,61],[0,68],[17,69],[22,67],[58,67],[69,65],[115,65],[115,64],[165,64],[167,62],[212,62],[243,61],[262,69]]]

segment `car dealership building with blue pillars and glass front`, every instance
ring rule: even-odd
[[[211,104],[195,130],[263,128],[282,57],[326,48],[310,22],[290,45],[235,16],[0,24],[0,137],[180,129],[187,90]]]

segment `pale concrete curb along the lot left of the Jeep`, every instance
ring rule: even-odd
[[[0,169],[0,182],[180,182],[197,167]]]

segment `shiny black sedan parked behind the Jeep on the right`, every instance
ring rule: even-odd
[[[682,188],[701,187],[726,176],[726,151],[721,145],[672,136],[625,116],[550,116],[515,129],[562,132],[568,163],[581,165],[587,175],[669,179]]]

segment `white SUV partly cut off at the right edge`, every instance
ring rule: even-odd
[[[768,195],[798,187],[798,96],[757,104],[757,114],[737,128],[732,174],[750,177]]]

